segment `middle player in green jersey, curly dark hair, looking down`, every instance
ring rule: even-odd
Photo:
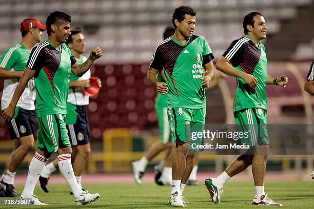
[[[168,119],[176,150],[172,161],[171,206],[185,206],[183,189],[194,165],[202,138],[191,140],[190,129],[203,131],[206,114],[205,88],[214,77],[213,55],[202,36],[192,35],[196,12],[176,8],[172,15],[174,35],[159,44],[148,70],[148,80],[161,94],[168,93]],[[166,82],[158,81],[164,70]]]

